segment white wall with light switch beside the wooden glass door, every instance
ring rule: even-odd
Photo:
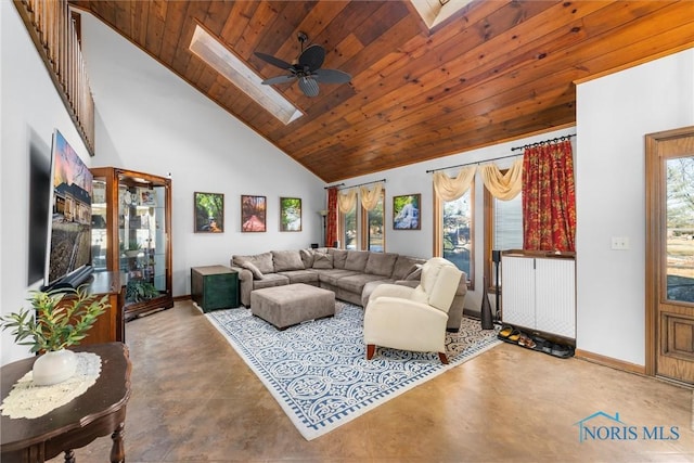
[[[577,92],[577,347],[644,365],[644,136],[694,125],[694,50]]]

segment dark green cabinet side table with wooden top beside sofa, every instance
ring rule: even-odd
[[[239,307],[239,273],[224,266],[193,267],[191,297],[203,312]]]

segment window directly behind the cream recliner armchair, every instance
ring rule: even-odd
[[[474,276],[473,190],[474,182],[465,194],[454,201],[441,201],[434,194],[434,210],[437,211],[434,255],[450,260],[464,271],[471,287]]]

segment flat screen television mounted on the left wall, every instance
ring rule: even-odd
[[[44,290],[78,287],[90,278],[93,176],[56,129],[51,146],[51,207]]]

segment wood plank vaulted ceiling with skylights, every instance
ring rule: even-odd
[[[694,46],[689,0],[475,0],[432,30],[408,0],[70,4],[326,183],[571,126],[577,81]],[[196,24],[262,78],[282,70],[254,52],[292,62],[305,31],[352,79],[316,98],[275,86],[305,113],[285,126],[191,53]]]

